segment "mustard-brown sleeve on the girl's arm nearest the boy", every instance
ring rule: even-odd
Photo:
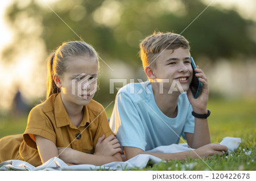
[[[106,116],[106,112],[103,111],[99,116],[98,116],[98,129],[96,132],[96,135],[93,139],[93,147],[95,148],[98,138],[102,136],[102,134],[105,134],[105,138],[109,137],[111,134],[114,135],[112,130],[109,127],[109,121],[108,117]]]

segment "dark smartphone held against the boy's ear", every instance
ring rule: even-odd
[[[197,72],[195,72],[195,69],[196,69],[195,61],[193,60],[192,57],[190,57],[190,60],[193,68],[193,78],[189,88],[192,92],[193,97],[196,99],[200,94],[203,83],[199,81],[199,77],[196,77]]]

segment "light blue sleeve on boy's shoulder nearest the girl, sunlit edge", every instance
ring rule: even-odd
[[[117,134],[121,146],[146,148],[146,137],[138,108],[129,95],[121,92],[117,95],[110,118],[110,128]]]

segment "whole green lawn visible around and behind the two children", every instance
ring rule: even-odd
[[[114,103],[106,110],[110,117]],[[170,161],[148,165],[143,169],[133,170],[255,170],[255,122],[256,100],[222,100],[211,98],[208,109],[212,112],[209,128],[212,142],[220,142],[224,137],[240,137],[239,148],[225,157],[208,159],[189,159],[189,161]],[[26,129],[26,116],[21,119],[4,117],[0,121],[0,137],[23,133]],[[251,152],[249,155],[245,153]],[[207,163],[207,164],[206,164]],[[123,169],[126,170],[126,169]]]

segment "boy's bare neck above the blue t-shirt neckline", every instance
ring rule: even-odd
[[[164,115],[174,118],[177,116],[177,102],[179,100],[179,93],[173,92],[168,94],[168,91],[159,92],[159,83],[152,82],[152,90],[154,92],[154,99],[158,108]]]

